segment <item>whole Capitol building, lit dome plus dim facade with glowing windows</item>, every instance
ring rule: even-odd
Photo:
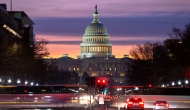
[[[115,85],[126,85],[126,71],[130,62],[128,55],[115,58],[112,55],[112,44],[106,27],[100,22],[97,6],[93,14],[93,21],[89,24],[80,44],[80,55],[77,59],[64,54],[54,61],[59,70],[84,72],[93,77],[112,79]]]

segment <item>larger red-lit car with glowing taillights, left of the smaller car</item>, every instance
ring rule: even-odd
[[[124,102],[124,110],[144,110],[144,102],[141,98],[129,98]]]

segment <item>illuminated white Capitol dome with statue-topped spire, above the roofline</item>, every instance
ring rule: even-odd
[[[112,44],[106,27],[99,21],[97,5],[95,6],[94,18],[83,35],[80,44],[81,54],[78,58],[110,58],[112,55]]]

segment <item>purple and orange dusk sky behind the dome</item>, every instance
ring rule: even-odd
[[[163,42],[172,28],[190,22],[190,0],[12,0],[13,11],[25,11],[35,22],[36,38],[48,40],[50,57],[80,54],[86,27],[93,20],[95,5],[106,27],[116,58],[129,54],[132,46]],[[0,0],[7,4],[10,0]]]

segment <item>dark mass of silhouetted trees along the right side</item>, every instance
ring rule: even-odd
[[[190,78],[190,23],[184,29],[173,28],[163,44],[147,41],[132,47],[130,55],[133,62],[126,75],[130,85],[184,82]]]

